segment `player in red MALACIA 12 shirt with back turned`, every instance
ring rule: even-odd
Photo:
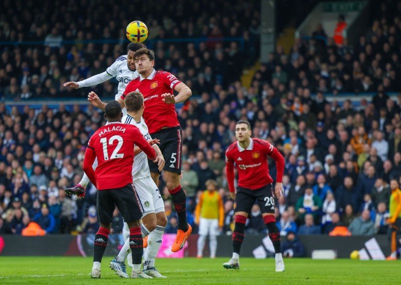
[[[151,278],[140,270],[143,239],[139,220],[142,217],[138,197],[132,184],[134,147],[144,151],[148,159],[160,159],[136,126],[121,123],[122,110],[117,101],[105,106],[108,123],[91,136],[85,152],[83,169],[98,189],[97,210],[100,228],[95,235],[92,278],[100,278],[100,263],[107,246],[113,211],[117,206],[128,224],[132,250],[132,278]],[[98,167],[92,165],[97,158]]]

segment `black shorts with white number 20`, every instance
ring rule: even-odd
[[[274,195],[272,184],[268,184],[256,190],[237,187],[234,211],[246,212],[249,214],[256,200],[258,200],[262,214],[274,214]]]

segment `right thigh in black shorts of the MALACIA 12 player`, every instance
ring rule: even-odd
[[[126,223],[140,220],[142,210],[139,206],[139,199],[132,184],[119,189],[113,189],[113,195],[118,210]]]

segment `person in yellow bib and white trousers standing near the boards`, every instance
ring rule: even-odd
[[[210,257],[216,257],[217,235],[224,224],[223,200],[217,192],[217,182],[213,179],[206,181],[207,188],[200,197],[195,209],[195,223],[199,225],[197,240],[197,257],[203,256],[206,237],[209,234]]]

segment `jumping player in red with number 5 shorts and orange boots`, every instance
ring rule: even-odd
[[[118,101],[124,106],[124,98],[131,91],[143,94],[145,105],[143,117],[149,126],[150,135],[160,140],[159,148],[166,160],[163,175],[178,215],[177,237],[171,247],[171,251],[176,252],[185,245],[192,228],[186,221],[186,195],[180,185],[182,130],[174,104],[189,98],[191,90],[171,73],[156,71],[153,68],[153,51],[145,48],[137,50],[134,61],[140,76],[127,85]],[[175,97],[174,90],[178,92]],[[88,100],[101,109],[104,106],[93,92],[89,93]],[[157,165],[149,162],[149,170],[157,185],[160,175]]]

